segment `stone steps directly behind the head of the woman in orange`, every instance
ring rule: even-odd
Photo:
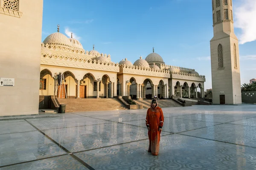
[[[143,100],[134,100],[139,105],[143,105],[143,108],[150,108],[150,99],[143,99]],[[175,102],[172,99],[166,99],[166,100],[157,100],[157,105],[160,108],[167,108],[167,107],[182,107],[179,103]]]

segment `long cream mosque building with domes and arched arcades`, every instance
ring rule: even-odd
[[[85,51],[72,34],[71,38],[61,34],[59,25],[58,31],[41,44],[40,71],[40,96],[129,96],[139,100],[155,95],[163,99],[204,97],[205,76],[194,69],[167,65],[154,48],[145,59],[138,57],[134,63],[127,58],[113,62],[109,54],[99,53],[94,45],[92,50]],[[58,77],[64,79],[60,85]]]

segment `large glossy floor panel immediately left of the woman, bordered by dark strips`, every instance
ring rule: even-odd
[[[147,128],[120,123],[44,130],[44,133],[71,152],[148,139]]]

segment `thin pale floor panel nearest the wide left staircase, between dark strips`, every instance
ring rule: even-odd
[[[81,118],[28,121],[40,130],[111,123],[109,121],[84,116],[81,116]]]

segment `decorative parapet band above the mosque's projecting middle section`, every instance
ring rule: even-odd
[[[168,70],[160,70],[154,68],[138,67],[134,65],[119,65],[119,74],[137,74],[141,76],[164,77],[170,78]]]

